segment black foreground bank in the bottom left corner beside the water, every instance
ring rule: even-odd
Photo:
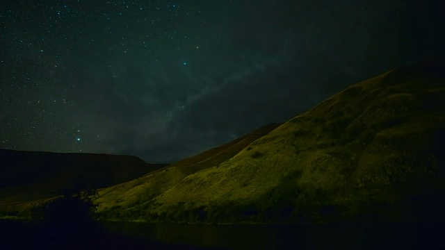
[[[111,233],[99,224],[54,224],[0,220],[0,249],[196,249]],[[6,248],[5,248],[6,247]]]

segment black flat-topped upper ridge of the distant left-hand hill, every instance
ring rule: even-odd
[[[125,166],[125,167],[124,167]],[[97,176],[101,185],[129,181],[147,172],[164,167],[165,164],[148,164],[136,156],[116,156],[96,153],[49,153],[0,149],[0,188],[10,188],[42,181],[63,174],[65,178],[74,171],[102,172]],[[119,170],[121,176],[113,171]],[[79,173],[78,173],[79,174]],[[85,174],[85,173],[83,173]],[[88,176],[88,174],[87,174]],[[58,176],[60,177],[60,176]],[[66,181],[66,180],[65,180]],[[86,188],[102,188],[93,187]]]

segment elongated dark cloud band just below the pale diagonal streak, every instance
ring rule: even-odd
[[[175,110],[163,133],[146,138],[138,153],[154,161],[179,160],[267,123],[285,122],[313,103],[315,90],[297,76],[292,68],[264,65],[227,77],[218,88]]]

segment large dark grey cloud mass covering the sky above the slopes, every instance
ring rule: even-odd
[[[323,9],[315,1],[255,1],[255,8],[251,3],[237,3],[241,8],[221,38],[209,29],[220,19],[209,19],[209,35],[193,41],[207,50],[185,51],[183,57],[191,59],[186,67],[181,58],[153,63],[136,56],[124,67],[111,59],[116,77],[100,72],[99,85],[82,91],[89,108],[84,122],[104,133],[95,146],[147,162],[179,160],[270,122],[285,122],[350,84],[415,58],[421,54],[416,42],[424,46],[437,38],[411,41],[409,23],[389,24],[396,3],[384,12],[380,4],[365,11],[353,1],[326,3]],[[422,24],[425,19],[410,11],[396,14]]]

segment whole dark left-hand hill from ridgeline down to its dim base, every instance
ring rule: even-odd
[[[129,181],[165,164],[151,165],[135,156],[0,150],[0,215],[23,211],[31,201],[63,190],[94,190]]]

